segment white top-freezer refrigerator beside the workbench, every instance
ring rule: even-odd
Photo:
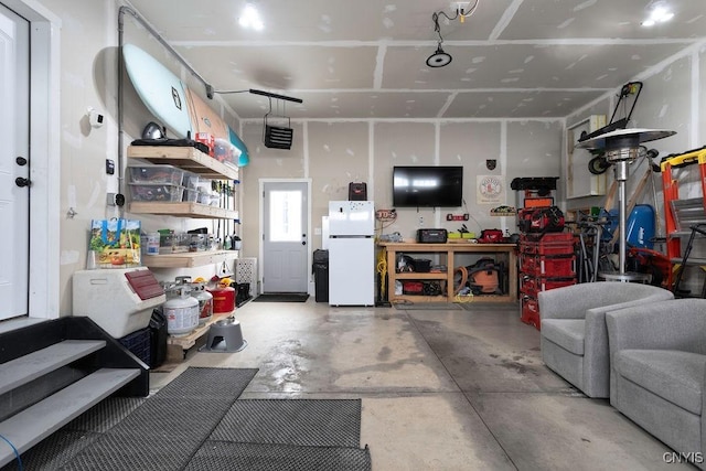
[[[329,304],[375,306],[372,201],[329,202]]]

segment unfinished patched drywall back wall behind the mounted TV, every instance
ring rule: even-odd
[[[320,227],[330,200],[346,200],[350,182],[366,182],[368,199],[377,210],[392,208],[392,169],[395,165],[463,165],[466,207],[396,208],[397,220],[385,223],[384,233],[399,232],[414,238],[424,227],[458,231],[459,222],[446,215],[468,212],[469,231],[507,228],[516,232],[514,217],[492,217],[491,207],[515,205],[510,189],[516,176],[560,176],[564,120],[336,120],[297,121],[291,150],[261,144],[261,121],[245,124],[243,138],[252,163],[243,172],[243,233],[245,256],[258,254],[258,179],[311,178],[312,227]],[[485,160],[496,160],[494,170]],[[505,181],[505,197],[499,204],[478,204],[477,176],[496,175]],[[312,249],[321,247],[312,238]]]

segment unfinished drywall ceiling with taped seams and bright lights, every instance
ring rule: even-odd
[[[258,88],[292,119],[565,117],[703,41],[704,0],[673,0],[674,19],[640,22],[649,0],[479,0],[464,23],[434,12],[446,0],[257,0],[265,29],[243,30],[245,0],[130,0],[137,12],[216,90]],[[453,7],[453,10],[451,6]],[[126,42],[130,39],[126,36]],[[268,99],[222,95],[244,119]]]

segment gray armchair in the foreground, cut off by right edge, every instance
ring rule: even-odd
[[[706,299],[611,311],[606,322],[610,404],[706,469]]]

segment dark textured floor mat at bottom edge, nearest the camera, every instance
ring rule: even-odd
[[[298,447],[288,445],[207,441],[186,471],[368,471],[367,448]]]

